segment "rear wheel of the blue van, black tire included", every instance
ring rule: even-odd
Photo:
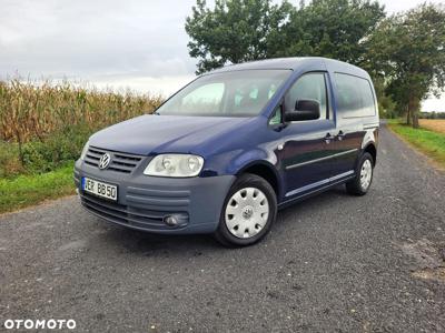
[[[346,183],[346,191],[353,195],[365,195],[373,182],[374,159],[365,152],[357,163],[356,176]]]

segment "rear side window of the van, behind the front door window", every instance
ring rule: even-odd
[[[375,100],[366,79],[335,73],[337,110],[342,118],[375,115]]]

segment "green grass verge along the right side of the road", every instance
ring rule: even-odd
[[[405,141],[425,153],[441,168],[445,169],[445,134],[426,129],[413,129],[397,122],[388,122],[389,129]]]

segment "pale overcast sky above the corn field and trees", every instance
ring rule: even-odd
[[[380,2],[393,13],[423,1]],[[0,79],[68,79],[167,97],[195,77],[197,60],[188,54],[184,30],[195,3],[0,0]],[[445,94],[425,101],[423,110],[445,111]]]

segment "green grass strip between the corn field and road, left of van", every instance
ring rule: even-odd
[[[0,214],[75,193],[72,163],[42,174],[0,179]]]

